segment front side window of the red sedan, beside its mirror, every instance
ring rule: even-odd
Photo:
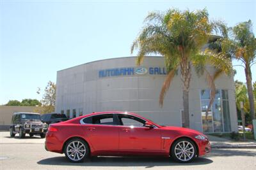
[[[143,127],[146,122],[145,120],[132,115],[118,115],[118,118],[120,124],[124,126]]]

